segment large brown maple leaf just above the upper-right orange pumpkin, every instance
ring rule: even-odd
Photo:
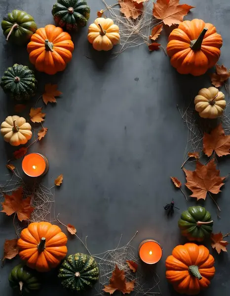
[[[183,22],[184,16],[194,7],[179,4],[179,0],[156,0],[156,3],[153,3],[153,16],[170,27]]]

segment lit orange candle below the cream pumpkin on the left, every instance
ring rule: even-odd
[[[48,171],[48,160],[39,153],[30,153],[22,161],[23,172],[30,177],[39,177]]]

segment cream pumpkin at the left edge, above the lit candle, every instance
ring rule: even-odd
[[[1,124],[1,135],[12,146],[26,144],[32,138],[31,125],[17,115],[8,116]]]

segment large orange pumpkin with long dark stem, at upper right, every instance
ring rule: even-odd
[[[223,40],[212,24],[194,19],[182,22],[168,38],[171,65],[180,74],[204,74],[220,58]]]

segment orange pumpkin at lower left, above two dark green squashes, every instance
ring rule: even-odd
[[[44,272],[56,267],[67,254],[67,236],[57,225],[34,222],[22,230],[19,256],[33,269]]]

